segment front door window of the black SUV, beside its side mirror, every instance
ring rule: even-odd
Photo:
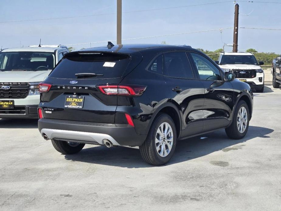
[[[193,61],[197,67],[200,79],[211,80],[211,81],[221,81],[219,69],[205,57],[190,53]]]

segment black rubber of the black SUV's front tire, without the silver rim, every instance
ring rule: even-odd
[[[238,126],[237,126],[238,112],[239,112],[241,107],[245,107],[245,109],[247,111],[247,117],[248,117],[247,118],[247,126],[246,126],[246,129],[243,133],[239,132]],[[246,135],[246,133],[248,132],[249,121],[250,121],[250,113],[249,113],[248,105],[244,100],[241,100],[241,101],[238,102],[238,104],[235,108],[235,112],[234,112],[234,116],[233,116],[233,120],[232,120],[231,125],[225,129],[225,132],[226,132],[227,136],[231,139],[241,139],[241,138],[243,138]]]

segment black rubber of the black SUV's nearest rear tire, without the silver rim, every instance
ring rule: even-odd
[[[172,133],[173,133],[173,144],[169,154],[166,157],[161,157],[156,150],[155,137],[159,126],[165,122],[171,126]],[[156,117],[156,119],[152,123],[146,140],[140,146],[141,157],[144,159],[144,161],[146,161],[151,165],[156,165],[156,166],[164,165],[172,158],[175,152],[176,144],[177,144],[177,131],[176,131],[175,123],[169,115],[161,114],[158,117]]]

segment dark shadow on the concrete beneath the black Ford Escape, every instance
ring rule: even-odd
[[[249,126],[247,135],[240,140],[231,140],[227,137],[224,130],[219,130],[205,134],[203,137],[198,136],[179,141],[176,146],[175,154],[166,165],[192,160],[223,149],[227,151],[225,148],[235,144],[245,143],[256,137],[269,138],[270,136],[268,136],[268,134],[273,131],[274,130],[265,127]],[[90,147],[83,149],[78,154],[65,155],[65,159],[123,168],[154,167],[142,160],[139,150],[127,147]]]

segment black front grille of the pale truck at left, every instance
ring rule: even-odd
[[[9,86],[10,89],[2,89],[2,86]],[[0,82],[0,99],[21,99],[26,98],[29,93],[28,83],[1,83]]]

